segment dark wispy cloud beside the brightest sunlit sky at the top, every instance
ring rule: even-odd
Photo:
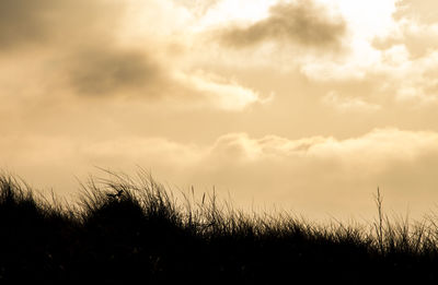
[[[247,47],[265,40],[290,41],[306,47],[338,47],[345,34],[342,19],[332,19],[312,1],[279,3],[269,16],[246,27],[231,27],[221,41],[233,47]]]

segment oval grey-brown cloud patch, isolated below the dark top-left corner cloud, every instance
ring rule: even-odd
[[[146,52],[116,48],[88,48],[68,60],[73,88],[83,95],[110,95],[118,91],[148,88],[161,79],[159,64]]]

